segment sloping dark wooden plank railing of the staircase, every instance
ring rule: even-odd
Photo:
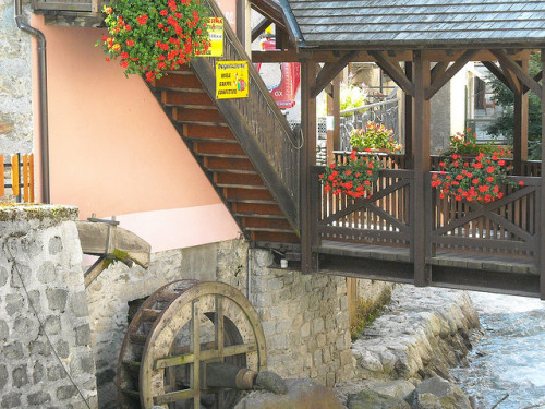
[[[213,15],[222,17],[215,1],[208,4]],[[249,61],[249,97],[218,99],[216,105],[284,215],[299,231],[301,141],[278,109],[229,24],[225,25],[223,57],[195,58],[191,62],[213,99],[216,96],[216,61]]]

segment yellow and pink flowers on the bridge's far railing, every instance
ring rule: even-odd
[[[368,121],[365,129],[354,129],[350,133],[350,144],[356,151],[393,153],[402,146],[393,140],[393,131],[382,123]]]

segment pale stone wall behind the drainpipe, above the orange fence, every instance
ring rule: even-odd
[[[25,19],[29,21],[27,7]],[[0,154],[31,153],[31,36],[15,24],[13,0],[0,0]]]

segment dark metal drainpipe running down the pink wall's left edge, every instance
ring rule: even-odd
[[[23,32],[32,35],[38,41],[38,110],[41,142],[41,200],[50,203],[49,191],[49,125],[47,116],[47,65],[46,65],[46,36],[39,29],[23,21],[23,0],[13,0],[15,22]]]

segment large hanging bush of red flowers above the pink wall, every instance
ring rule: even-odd
[[[159,79],[209,47],[208,9],[201,0],[111,0],[104,12],[109,35],[96,46],[125,75]]]

